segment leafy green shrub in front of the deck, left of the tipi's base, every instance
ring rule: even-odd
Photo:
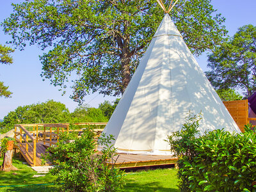
[[[63,133],[58,146],[50,147],[51,153],[44,157],[55,165],[50,173],[57,176],[56,184],[62,184],[63,191],[113,191],[122,187],[124,173],[106,164],[116,156],[111,140],[113,136],[103,134],[95,141],[92,129],[84,130],[81,138]],[[106,146],[100,153],[95,150],[98,144]]]

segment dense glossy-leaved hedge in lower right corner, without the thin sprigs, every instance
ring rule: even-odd
[[[198,153],[187,164],[194,191],[253,191],[256,185],[256,135],[253,131],[231,134],[209,132],[195,143]]]

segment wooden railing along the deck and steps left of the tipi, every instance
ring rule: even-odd
[[[72,125],[95,125],[95,128],[99,126],[106,126],[106,122],[90,122],[90,123],[77,123]],[[59,141],[60,132],[72,132],[72,131],[83,131],[83,129],[70,129],[71,125],[68,123],[65,124],[16,124],[14,125],[15,129],[15,141],[17,141],[20,150],[25,152],[25,159],[29,161],[28,157],[33,162],[33,165],[36,165],[36,143],[42,141],[44,145],[47,143],[49,146],[55,145]],[[19,130],[18,130],[19,129]],[[29,131],[29,129],[31,131]],[[42,129],[42,130],[40,130]],[[33,130],[33,131],[32,131]],[[102,129],[93,129],[93,131],[98,134]],[[25,145],[22,145],[26,143]],[[25,146],[25,147],[24,147]],[[33,151],[33,153],[31,153]],[[30,152],[30,153],[29,153]],[[31,156],[31,154],[33,154]]]

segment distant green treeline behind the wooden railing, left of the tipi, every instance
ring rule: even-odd
[[[99,104],[99,108],[81,105],[73,113],[68,111],[65,104],[54,100],[19,106],[4,116],[3,122],[0,122],[0,133],[13,129],[15,124],[108,122],[119,100],[116,99],[115,102],[105,100]]]

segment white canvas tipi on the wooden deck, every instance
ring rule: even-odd
[[[164,140],[189,110],[202,111],[202,133],[240,132],[166,14],[103,132],[115,136],[118,152],[169,155]]]

